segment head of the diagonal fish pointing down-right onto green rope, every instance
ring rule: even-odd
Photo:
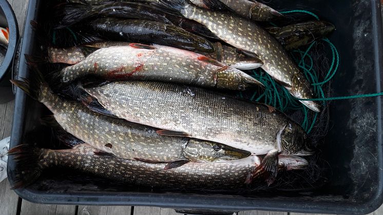
[[[311,89],[311,85],[309,81],[304,77],[304,75],[301,72],[297,72],[293,75],[292,79],[293,86],[291,88],[291,94],[294,95],[297,98],[300,99],[313,99],[314,93]],[[310,108],[311,110],[315,112],[320,112],[320,104],[315,101],[302,101],[300,100],[303,105]]]

